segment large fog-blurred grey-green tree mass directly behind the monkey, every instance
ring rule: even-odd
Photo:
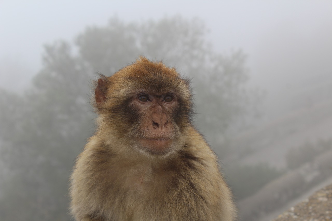
[[[110,75],[138,55],[163,59],[193,79],[199,129],[219,156],[226,132],[256,107],[248,91],[246,56],[239,50],[221,55],[206,41],[199,19],[181,17],[88,27],[75,43],[44,47],[42,68],[23,94],[0,91],[0,162],[2,221],[69,220],[68,179],[75,157],[94,131],[89,85],[95,72]],[[276,176],[265,166],[233,168],[231,185],[263,184]],[[257,176],[247,177],[253,173]],[[258,175],[267,175],[259,181]],[[271,174],[270,174],[271,173]],[[250,180],[247,180],[247,179]],[[254,187],[252,189],[254,191]]]

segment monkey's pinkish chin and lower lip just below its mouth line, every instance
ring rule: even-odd
[[[143,150],[153,155],[165,155],[172,150],[171,139],[140,139],[139,143]]]

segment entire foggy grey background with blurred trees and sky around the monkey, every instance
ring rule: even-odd
[[[68,176],[94,131],[89,85],[138,55],[192,78],[195,125],[243,220],[331,183],[331,12],[303,0],[0,1],[0,219],[70,219]]]

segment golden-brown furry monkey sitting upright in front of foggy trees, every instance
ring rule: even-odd
[[[237,218],[217,156],[193,126],[190,80],[141,56],[95,82],[96,132],[75,161],[77,221]]]

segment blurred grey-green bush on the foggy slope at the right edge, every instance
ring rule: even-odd
[[[305,142],[303,145],[290,149],[286,154],[286,164],[289,169],[296,169],[304,163],[310,162],[313,158],[327,150],[332,149],[332,140],[319,140],[312,144]]]

